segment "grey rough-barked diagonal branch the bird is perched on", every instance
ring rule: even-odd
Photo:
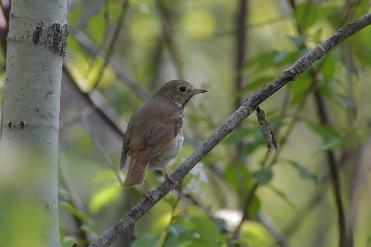
[[[234,128],[246,119],[256,107],[259,106],[264,100],[270,97],[273,93],[278,91],[289,81],[296,80],[299,74],[308,69],[311,64],[324,56],[328,51],[344,41],[347,37],[355,34],[357,31],[371,24],[371,13],[349,23],[347,26],[342,27],[328,40],[325,40],[309,53],[305,54],[292,66],[290,66],[285,73],[277,80],[273,81],[266,89],[260,91],[255,96],[246,100],[240,108],[235,111],[232,116],[224,121],[217,130],[211,134],[209,138],[204,141],[171,175],[174,184],[169,180],[165,180],[160,186],[150,192],[150,200],[140,201],[132,210],[130,210],[124,217],[121,218],[114,226],[112,226],[106,233],[100,236],[90,246],[107,247],[112,244],[124,231],[134,226],[134,223],[142,217],[151,207],[154,206],[162,197],[169,193],[177,184],[181,183],[187,173],[196,166],[196,164],[206,156],[216,145],[223,140]]]

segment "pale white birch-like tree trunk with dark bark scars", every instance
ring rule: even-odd
[[[66,6],[67,0],[12,0],[0,160],[0,246],[60,246],[57,169]]]

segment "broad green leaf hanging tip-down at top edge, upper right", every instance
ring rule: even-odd
[[[305,33],[316,23],[318,10],[311,1],[304,1],[295,7],[296,23],[302,33]]]

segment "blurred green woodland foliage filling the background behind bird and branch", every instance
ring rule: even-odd
[[[172,79],[209,90],[185,109],[184,145],[168,168],[174,171],[236,110],[237,100],[259,92],[341,26],[371,10],[367,0],[247,1],[246,54],[236,68],[241,2],[132,0],[126,11],[121,0],[69,2],[64,70],[71,78],[62,78],[59,131],[65,157],[59,174],[62,246],[75,241],[85,246],[139,202],[140,186],[123,190],[120,185],[127,167],[118,171],[122,136],[112,126],[125,130],[145,93],[154,94]],[[260,105],[277,152],[267,153],[253,113],[112,246],[285,246],[274,228],[292,246],[338,246],[328,152],[340,174],[354,246],[371,246],[370,40],[366,27]],[[4,78],[5,58],[1,61]],[[240,76],[243,85],[236,88]],[[79,96],[67,80],[78,85]],[[3,90],[0,83],[0,97]],[[93,97],[95,91],[99,95]],[[91,110],[83,93],[112,122]],[[148,171],[146,190],[162,180]],[[1,228],[0,217],[0,238]]]

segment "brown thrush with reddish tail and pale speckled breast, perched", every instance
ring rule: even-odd
[[[132,114],[122,144],[120,168],[130,156],[124,188],[142,184],[142,198],[151,198],[144,192],[147,168],[165,171],[165,166],[180,151],[184,138],[184,107],[194,94],[207,90],[194,89],[182,80],[165,83],[155,95]]]

